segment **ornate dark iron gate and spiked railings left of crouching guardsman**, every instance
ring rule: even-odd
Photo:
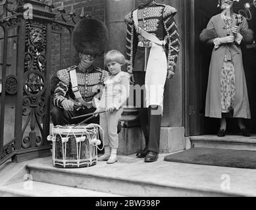
[[[51,0],[0,0],[0,165],[49,156],[51,76],[76,62],[72,30],[85,16]]]

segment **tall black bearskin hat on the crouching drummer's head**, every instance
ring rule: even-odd
[[[74,27],[73,44],[78,53],[101,56],[109,41],[107,26],[93,18],[84,18]]]

